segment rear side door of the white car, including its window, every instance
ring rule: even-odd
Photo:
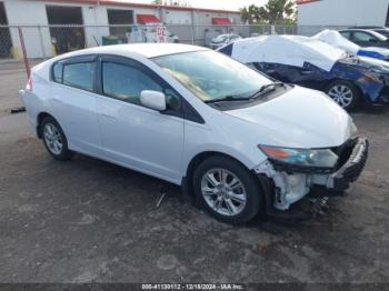
[[[74,57],[52,67],[52,114],[62,127],[69,148],[101,154],[96,94],[97,56]]]

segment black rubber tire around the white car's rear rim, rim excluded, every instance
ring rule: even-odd
[[[50,146],[49,139],[44,136],[44,129],[46,127],[51,127],[52,129],[56,129],[59,137],[60,137],[60,143],[61,143],[61,150],[56,151],[53,148]],[[59,161],[68,161],[72,158],[73,152],[69,150],[68,148],[68,140],[67,137],[64,136],[60,124],[52,118],[52,117],[47,117],[43,119],[42,123],[40,124],[40,136],[42,137],[44,148],[47,151],[50,153],[52,158]]]

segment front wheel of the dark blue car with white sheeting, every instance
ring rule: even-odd
[[[353,83],[348,81],[335,81],[326,88],[326,93],[345,110],[358,107],[361,93]]]

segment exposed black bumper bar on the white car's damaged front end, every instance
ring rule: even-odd
[[[350,158],[335,173],[332,173],[327,183],[327,188],[333,191],[345,191],[350,183],[356,181],[361,174],[368,159],[369,142],[365,138],[359,138],[355,143]]]

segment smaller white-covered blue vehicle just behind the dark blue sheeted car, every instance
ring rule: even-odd
[[[337,30],[326,29],[319,32],[318,34],[313,36],[312,39],[323,41],[330,46],[346,50],[347,52],[352,54],[389,61],[388,49],[378,47],[362,48],[342,37]]]

